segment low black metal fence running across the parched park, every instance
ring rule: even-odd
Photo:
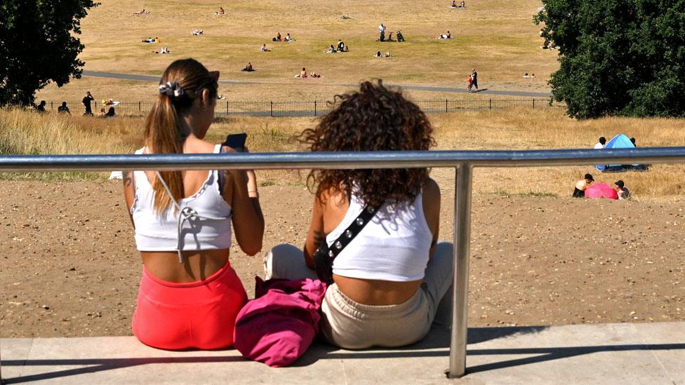
[[[492,109],[532,108],[532,109],[563,109],[565,104],[552,102],[549,98],[533,97],[527,99],[472,99],[472,100],[415,100],[423,112],[437,114],[445,112],[484,111]],[[57,111],[61,102],[47,102],[47,111]],[[96,116],[104,115],[109,107],[114,107],[117,115],[144,116],[152,109],[154,102],[120,102],[116,106],[93,102],[92,110]],[[72,114],[82,114],[84,107],[81,102],[67,102]],[[311,102],[230,102],[217,100],[215,114],[217,116],[321,116],[331,111],[331,104],[320,100]]]

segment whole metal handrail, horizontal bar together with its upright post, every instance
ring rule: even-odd
[[[475,167],[685,163],[685,147],[526,151],[8,155],[0,171],[455,168],[453,313],[448,377],[466,374],[472,172]],[[0,377],[1,378],[1,377]]]

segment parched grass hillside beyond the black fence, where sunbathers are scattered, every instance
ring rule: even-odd
[[[479,69],[481,87],[546,90],[546,80],[557,69],[556,52],[540,50],[538,27],[531,18],[538,0],[471,0],[465,10],[448,8],[449,0],[333,1],[305,4],[255,0],[223,4],[219,1],[157,1],[147,4],[151,15],[132,15],[140,1],[103,1],[82,22],[80,58],[86,69],[133,74],[161,74],[177,58],[193,57],[222,79],[258,81],[250,86],[227,86],[232,100],[313,99],[332,95],[340,84],[382,78],[392,83],[464,86],[470,69]],[[228,15],[216,17],[223,5]],[[352,20],[341,20],[346,14]],[[401,29],[405,43],[378,43],[378,25],[387,31]],[[204,36],[191,36],[192,29]],[[455,39],[430,39],[451,31]],[[272,43],[277,32],[297,38],[294,43]],[[159,36],[161,43],[141,40]],[[350,52],[326,55],[324,48],[343,39]],[[260,53],[262,43],[272,52]],[[153,50],[168,46],[171,55]],[[377,50],[390,50],[393,58],[378,59]],[[246,62],[257,72],[242,73]],[[293,79],[301,67],[324,73],[322,79]],[[524,72],[536,79],[522,79]],[[38,97],[46,100],[80,100],[86,89],[98,99],[150,100],[154,85],[84,77],[64,88],[48,86]],[[342,87],[344,88],[344,87]],[[473,95],[460,95],[472,97]]]

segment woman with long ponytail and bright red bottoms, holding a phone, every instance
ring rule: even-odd
[[[145,122],[145,147],[136,154],[234,152],[204,140],[218,76],[197,60],[171,63]],[[231,224],[248,255],[261,250],[264,236],[255,173],[130,171],[124,194],[143,264],[133,334],[160,349],[231,346],[247,301],[228,258]]]

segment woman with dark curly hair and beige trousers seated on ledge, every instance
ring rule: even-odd
[[[300,135],[311,151],[426,151],[434,145],[425,114],[380,80],[364,81],[335,102],[316,128]],[[267,278],[316,278],[317,248],[324,242],[342,248],[321,306],[324,338],[346,349],[404,346],[427,335],[438,308],[448,322],[452,245],[437,243],[440,190],[428,170],[312,170],[308,181],[316,194],[304,250],[273,248],[265,271]],[[350,237],[347,230],[368,208],[378,211]],[[343,234],[352,240],[341,247]]]

